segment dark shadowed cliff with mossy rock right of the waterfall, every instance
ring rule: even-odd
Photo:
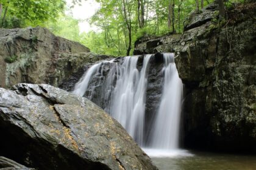
[[[135,44],[135,54],[176,53],[185,84],[185,146],[256,152],[255,15],[252,2],[229,10],[221,21],[218,5],[211,4],[191,13],[182,35]]]

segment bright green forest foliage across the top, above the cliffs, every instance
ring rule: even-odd
[[[35,27],[50,29],[67,39],[78,41],[94,53],[131,55],[133,44],[145,35],[182,33],[185,19],[214,0],[95,0],[100,8],[89,19],[97,31],[79,31],[79,20],[66,13],[74,5],[86,0],[0,0],[2,28]],[[218,0],[222,15],[224,9],[244,0]]]

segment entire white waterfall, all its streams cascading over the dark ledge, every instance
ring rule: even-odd
[[[102,86],[99,94],[102,96],[101,98],[104,98],[104,109],[123,125],[140,146],[148,147],[145,151],[149,155],[161,155],[158,154],[158,151],[169,153],[179,147],[179,122],[183,86],[174,63],[174,54],[163,54],[162,97],[158,101],[158,111],[150,125],[152,131],[147,145],[144,130],[145,105],[148,70],[152,55],[144,56],[140,71],[137,68],[138,58],[139,56],[127,56],[123,58],[123,62],[110,61],[112,67],[105,76],[105,80],[98,84]],[[83,96],[91,84],[92,77],[99,74],[101,67],[104,67],[104,64],[99,63],[88,69],[74,87],[73,93]],[[100,74],[103,75],[102,70]],[[91,96],[87,97],[92,98]]]

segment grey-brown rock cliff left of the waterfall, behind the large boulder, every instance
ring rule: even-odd
[[[17,83],[60,86],[85,64],[108,57],[88,52],[78,42],[41,27],[0,29],[0,87]]]

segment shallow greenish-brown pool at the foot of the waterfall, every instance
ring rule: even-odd
[[[179,154],[160,157],[149,153],[160,170],[255,170],[256,155],[216,154],[210,152],[180,151]]]

